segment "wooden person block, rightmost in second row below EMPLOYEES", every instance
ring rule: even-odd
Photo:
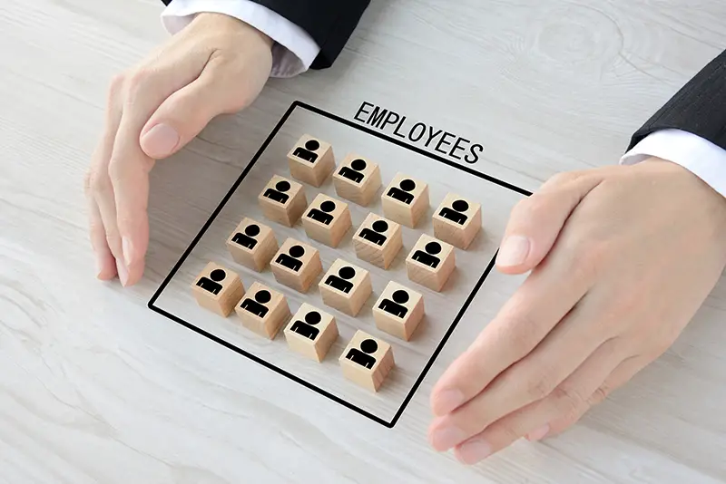
[[[426,234],[406,259],[408,278],[433,291],[441,291],[455,267],[454,247]]]

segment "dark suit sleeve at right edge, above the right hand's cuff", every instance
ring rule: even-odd
[[[628,149],[652,132],[668,129],[691,132],[726,150],[726,51],[636,131]]]

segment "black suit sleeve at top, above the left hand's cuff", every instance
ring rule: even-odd
[[[172,0],[162,0],[169,5]],[[253,0],[305,30],[320,46],[310,67],[330,67],[348,42],[370,0]]]

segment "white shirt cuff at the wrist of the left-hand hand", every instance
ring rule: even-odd
[[[176,34],[202,12],[230,15],[267,34],[275,42],[272,77],[304,73],[320,52],[319,45],[298,25],[250,0],[173,0],[162,13],[162,24]]]

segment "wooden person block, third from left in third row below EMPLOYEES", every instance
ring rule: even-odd
[[[330,266],[318,287],[323,303],[351,316],[358,315],[373,292],[368,271],[348,264],[343,259],[336,260]]]

